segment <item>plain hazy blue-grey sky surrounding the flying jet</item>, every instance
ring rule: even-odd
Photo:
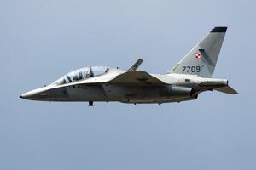
[[[255,169],[254,1],[0,2],[0,169]],[[229,26],[207,92],[164,105],[33,102],[18,96],[88,65],[163,73]]]

